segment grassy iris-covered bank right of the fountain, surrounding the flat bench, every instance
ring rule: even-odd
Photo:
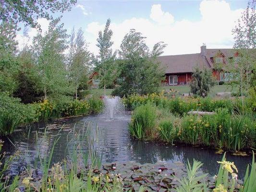
[[[137,139],[169,144],[192,144],[239,151],[256,148],[255,113],[242,112],[239,100],[168,98],[165,95],[129,96],[134,110],[129,130]],[[188,111],[214,111],[214,115],[188,115]]]

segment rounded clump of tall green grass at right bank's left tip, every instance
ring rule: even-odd
[[[152,104],[147,103],[136,108],[129,124],[130,133],[139,139],[143,139],[144,136],[151,137],[156,119],[156,108]]]

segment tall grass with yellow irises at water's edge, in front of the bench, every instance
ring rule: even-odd
[[[226,108],[217,109],[214,115],[175,117],[167,108],[147,103],[134,110],[129,131],[137,139],[158,139],[170,144],[204,145],[229,151],[256,147],[253,117],[232,115]]]

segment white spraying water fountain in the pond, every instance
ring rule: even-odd
[[[119,96],[105,96],[105,115],[110,120],[114,119],[115,116],[120,115],[123,111],[123,105]]]

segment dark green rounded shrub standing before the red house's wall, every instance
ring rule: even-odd
[[[200,71],[199,68],[195,68],[192,81],[190,83],[191,92],[199,96],[207,96],[210,92],[210,88],[214,85],[211,70],[206,68]]]

